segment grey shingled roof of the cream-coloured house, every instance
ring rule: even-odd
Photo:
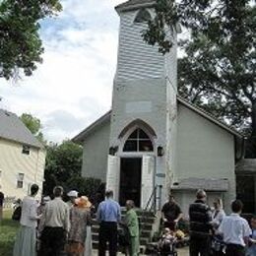
[[[43,148],[19,117],[4,109],[0,109],[0,138]]]

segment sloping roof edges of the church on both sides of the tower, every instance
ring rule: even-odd
[[[177,96],[177,101],[178,103],[183,104],[184,106],[186,106],[187,108],[191,109],[192,111],[200,114],[201,116],[203,116],[204,118],[208,119],[209,121],[213,122],[214,124],[220,126],[221,128],[223,128],[225,131],[227,131],[228,133],[234,135],[235,137],[238,137],[240,139],[243,138],[243,135],[237,131],[235,131],[234,129],[232,129],[231,127],[229,127],[228,125],[224,124],[223,122],[221,122],[220,120],[218,120],[214,115],[206,112],[205,110],[203,110],[202,108],[195,106],[193,104],[191,104],[190,102],[188,102],[187,100],[185,100],[184,98],[182,98],[181,96]],[[111,117],[111,111],[109,110],[108,112],[106,112],[104,115],[102,115],[101,117],[99,117],[93,124],[91,124],[89,127],[87,127],[85,130],[83,130],[81,133],[79,133],[77,136],[75,136],[72,141],[75,143],[82,143],[90,134],[92,134],[96,128],[100,127],[100,125],[106,123],[107,121],[110,121],[110,117]]]

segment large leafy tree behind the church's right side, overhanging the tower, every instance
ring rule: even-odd
[[[256,157],[256,7],[249,0],[157,0],[144,39],[169,51],[177,24],[190,32],[179,44],[178,90],[250,138]]]

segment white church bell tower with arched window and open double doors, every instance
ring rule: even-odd
[[[176,34],[165,55],[143,40],[154,4],[130,0],[116,7],[120,28],[106,187],[121,205],[132,199],[141,208],[154,193],[161,204],[175,169]]]

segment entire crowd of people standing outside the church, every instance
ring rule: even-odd
[[[109,255],[116,256],[118,226],[126,230],[125,254],[135,256],[140,253],[139,221],[132,200],[126,201],[127,211],[124,220],[121,220],[121,208],[113,200],[111,190],[105,192],[105,200],[96,205],[96,210],[87,196],[79,195],[75,190],[67,194],[69,201],[64,202],[63,188],[56,186],[53,199],[43,197],[39,205],[35,199],[37,192],[38,186],[33,184],[30,196],[23,200],[14,256],[92,256],[93,214],[96,214],[99,224],[99,256],[105,255],[107,244]],[[240,217],[242,208],[240,200],[232,201],[232,213],[227,216],[220,198],[215,199],[211,208],[207,205],[206,192],[198,190],[196,200],[190,204],[188,211],[189,255],[256,256],[256,217],[252,217],[249,225]],[[164,229],[160,247],[175,241],[174,231],[183,218],[181,208],[173,195],[169,195],[161,208]]]

